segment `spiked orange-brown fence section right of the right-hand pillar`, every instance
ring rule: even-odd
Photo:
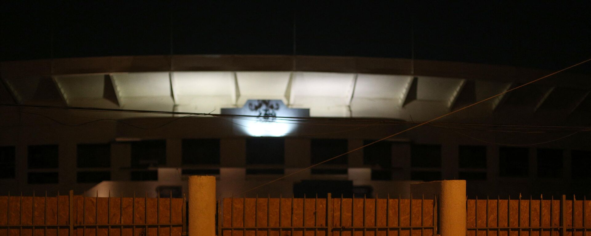
[[[591,235],[591,201],[467,199],[467,235]]]

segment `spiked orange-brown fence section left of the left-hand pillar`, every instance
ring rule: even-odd
[[[184,198],[0,196],[0,236],[186,235]]]

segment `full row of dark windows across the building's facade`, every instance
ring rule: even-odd
[[[367,145],[374,140],[365,140]],[[393,142],[378,142],[363,149],[363,164],[374,166],[372,176],[375,179],[390,179],[392,172]],[[132,169],[142,169],[149,166],[166,164],[165,140],[145,140],[130,142]],[[441,145],[410,145],[410,168],[413,180],[441,179]],[[459,146],[458,167],[459,178],[469,180],[486,179],[487,171],[486,146]],[[311,139],[310,162],[320,163],[327,159],[342,155],[349,150],[346,139]],[[499,147],[499,176],[527,177],[530,176],[530,148]],[[563,149],[537,149],[537,176],[539,178],[562,178],[564,175]],[[282,165],[284,164],[284,139],[275,137],[256,137],[246,139],[247,165]],[[394,153],[396,156],[396,153]],[[59,167],[58,145],[28,146],[27,166],[30,174],[44,175],[53,173]],[[107,168],[111,167],[111,145],[80,144],[77,145],[77,167],[93,168],[89,171],[101,171],[94,176],[107,176]],[[183,165],[219,165],[219,139],[184,139],[182,141]],[[313,174],[346,174],[347,155],[330,160],[326,164],[335,165],[332,168],[312,169]],[[573,179],[586,178],[586,170],[591,168],[591,152],[584,150],[571,151],[571,177]],[[99,169],[99,170],[96,170]],[[247,168],[248,174],[282,174],[282,169],[252,169]],[[79,179],[92,179],[89,171],[80,170]],[[57,176],[57,172],[56,176]],[[137,174],[138,176],[140,173]],[[109,174],[110,176],[110,174]],[[372,177],[372,179],[374,179]],[[15,147],[0,146],[0,178],[15,178]],[[56,177],[57,178],[57,177]],[[98,177],[96,177],[98,178]],[[53,179],[52,176],[40,179]],[[102,179],[106,179],[102,178]],[[133,179],[133,178],[132,178]],[[141,178],[139,178],[141,179]],[[149,178],[148,178],[149,179]],[[92,180],[89,180],[92,181]]]

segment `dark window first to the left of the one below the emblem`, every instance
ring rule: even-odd
[[[219,139],[183,139],[183,165],[219,163]]]

